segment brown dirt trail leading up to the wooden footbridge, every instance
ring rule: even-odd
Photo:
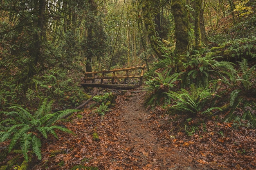
[[[119,133],[127,136],[128,141],[123,144],[134,163],[141,169],[152,170],[202,169],[193,166],[192,160],[175,147],[158,139],[161,132],[157,129],[166,122],[160,122],[155,115],[146,111],[144,95],[141,90],[134,90],[117,98],[116,109],[121,112],[118,117]]]

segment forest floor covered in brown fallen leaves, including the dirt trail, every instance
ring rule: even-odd
[[[116,92],[115,107],[103,118],[87,107],[61,122],[75,135],[49,137],[42,143],[42,161],[31,169],[256,169],[255,129],[211,118],[187,135],[181,120],[171,121],[180,117],[145,109],[142,89]]]

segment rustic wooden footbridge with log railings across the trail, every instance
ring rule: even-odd
[[[83,87],[102,87],[109,89],[135,89],[142,85],[145,66],[144,64],[131,68],[86,72],[84,78],[85,83],[81,85]],[[133,81],[135,84],[127,84],[128,79],[137,79],[137,81]],[[122,82],[122,80],[124,81]],[[91,81],[91,83],[88,83],[88,81]]]

